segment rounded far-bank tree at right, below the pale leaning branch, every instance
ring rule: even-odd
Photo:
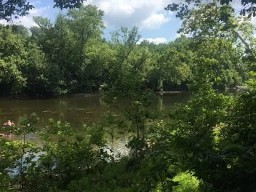
[[[209,70],[213,73],[209,78],[213,82],[214,88],[224,90],[228,87],[240,85],[247,80],[247,67],[242,64],[243,51],[234,47],[232,41],[209,38],[201,44],[198,43],[196,49],[195,57],[204,56],[216,61],[216,63],[209,66]],[[197,63],[197,61],[191,65],[192,81],[200,76],[200,68],[200,63]]]

